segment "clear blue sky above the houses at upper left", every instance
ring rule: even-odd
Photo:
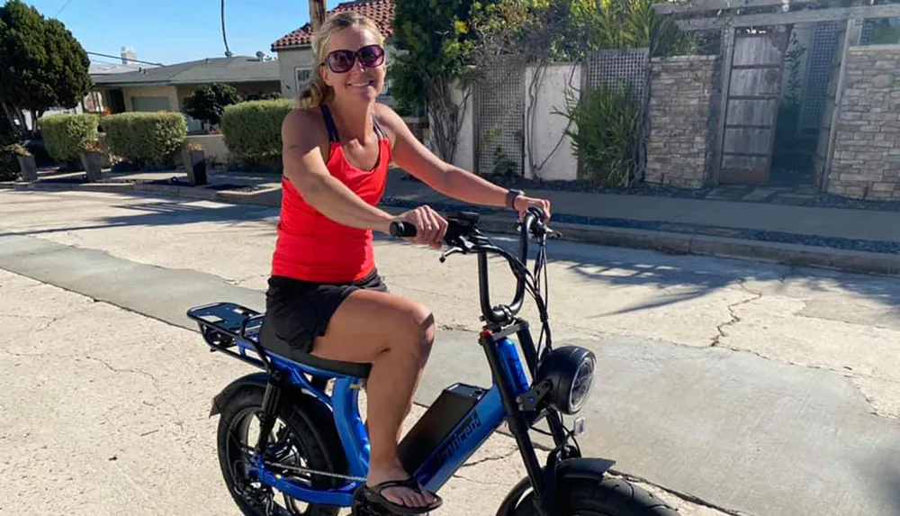
[[[330,0],[328,8],[340,0]],[[5,3],[0,0],[0,3]],[[173,64],[223,57],[220,0],[25,0],[58,18],[85,50],[118,56],[130,46],[138,59]],[[307,0],[225,0],[225,30],[235,55],[252,56],[306,23]],[[89,56],[94,62],[114,59]]]

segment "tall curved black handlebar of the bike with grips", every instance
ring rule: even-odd
[[[495,324],[505,324],[512,319],[522,309],[522,303],[525,300],[525,274],[518,270],[518,267],[512,262],[518,259],[521,267],[525,267],[527,272],[528,260],[528,237],[532,234],[545,234],[548,230],[544,224],[545,213],[540,208],[528,208],[523,218],[521,227],[519,228],[518,238],[518,257],[512,257],[499,249],[488,240],[481,231],[478,230],[477,223],[479,219],[478,213],[473,212],[457,212],[451,213],[447,217],[447,231],[444,237],[445,243],[452,249],[448,250],[446,256],[455,253],[468,254],[471,252],[478,253],[478,287],[479,297],[481,298],[482,318]],[[398,238],[411,238],[417,234],[416,226],[409,222],[392,222],[391,235]],[[498,306],[491,305],[491,289],[488,282],[488,252],[496,252],[507,258],[510,267],[518,279],[516,285],[516,294],[513,296],[512,303],[508,305],[500,304]]]

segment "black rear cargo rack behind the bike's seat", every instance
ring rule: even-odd
[[[253,366],[271,370],[271,363],[259,346],[259,331],[266,318],[265,313],[237,303],[223,302],[196,306],[187,311],[187,316],[197,322],[210,351],[227,353]],[[229,349],[238,346],[238,340],[249,342],[260,359],[247,357],[244,347],[240,347],[240,352]]]

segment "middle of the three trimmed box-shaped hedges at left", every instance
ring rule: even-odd
[[[110,152],[137,167],[171,164],[187,140],[182,113],[119,113],[101,123]]]

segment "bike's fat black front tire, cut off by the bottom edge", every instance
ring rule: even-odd
[[[619,478],[565,479],[559,490],[560,507],[554,516],[678,516],[666,502]],[[512,514],[537,516],[534,493],[528,493]]]

